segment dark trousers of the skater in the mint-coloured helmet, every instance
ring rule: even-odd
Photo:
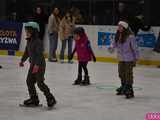
[[[50,90],[48,86],[44,83],[44,73],[45,73],[45,67],[40,68],[39,71],[35,74],[32,73],[33,65],[30,66],[27,76],[27,87],[30,97],[37,96],[35,84],[37,83],[37,86],[39,89],[44,93],[45,96],[50,95]]]

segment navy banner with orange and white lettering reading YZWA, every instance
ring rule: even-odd
[[[22,23],[0,21],[0,50],[18,50]]]

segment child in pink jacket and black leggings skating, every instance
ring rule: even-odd
[[[92,60],[96,62],[96,57],[91,49],[88,37],[82,27],[75,28],[73,32],[75,40],[75,48],[71,54],[73,58],[74,53],[77,53],[78,59],[78,77],[74,81],[73,85],[90,85],[87,64]],[[84,71],[84,80],[82,80],[82,70]]]

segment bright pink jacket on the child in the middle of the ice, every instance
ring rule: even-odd
[[[92,59],[92,50],[89,46],[89,40],[86,34],[81,36],[81,39],[76,41],[75,50],[77,52],[78,61],[88,62]]]

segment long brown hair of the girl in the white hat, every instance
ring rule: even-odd
[[[121,34],[121,38],[120,38],[120,34]],[[125,29],[122,33],[120,33],[118,30],[116,32],[116,36],[115,36],[115,41],[116,43],[121,43],[123,44],[126,40],[127,37],[132,34],[131,30],[129,28]]]

